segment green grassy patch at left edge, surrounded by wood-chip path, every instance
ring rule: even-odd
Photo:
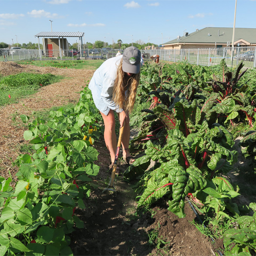
[[[17,103],[34,94],[41,86],[59,82],[61,76],[52,74],[20,73],[0,78],[0,106]]]

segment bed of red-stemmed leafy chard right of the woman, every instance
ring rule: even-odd
[[[214,67],[147,63],[141,70],[138,106],[148,104],[141,110],[144,115],[134,118],[141,130],[131,145],[143,156],[125,172],[130,180],[140,179],[135,186],[138,206],[164,198],[168,209],[182,218],[190,198],[212,216],[207,224],[213,230],[228,223],[220,232],[225,255],[256,252],[256,204],[236,204],[239,188],[224,177],[237,162],[232,134],[239,129],[249,131],[240,145],[253,159],[249,174],[256,178],[255,70],[241,72],[242,67],[241,62],[231,70],[225,60]]]

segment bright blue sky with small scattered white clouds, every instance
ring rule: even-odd
[[[196,29],[233,28],[234,20],[236,28],[256,28],[255,11],[256,0],[0,0],[0,42],[38,43],[35,35],[52,27],[84,32],[90,43],[161,45]]]

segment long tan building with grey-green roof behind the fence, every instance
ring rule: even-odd
[[[172,41],[163,43],[163,49],[198,49],[231,47],[233,28],[203,28],[186,32]],[[236,28],[234,37],[235,47],[256,46],[256,28]]]

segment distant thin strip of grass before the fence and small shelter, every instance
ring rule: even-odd
[[[97,69],[103,62],[103,60],[23,60],[18,61],[17,63],[20,65],[34,65],[37,67]]]

